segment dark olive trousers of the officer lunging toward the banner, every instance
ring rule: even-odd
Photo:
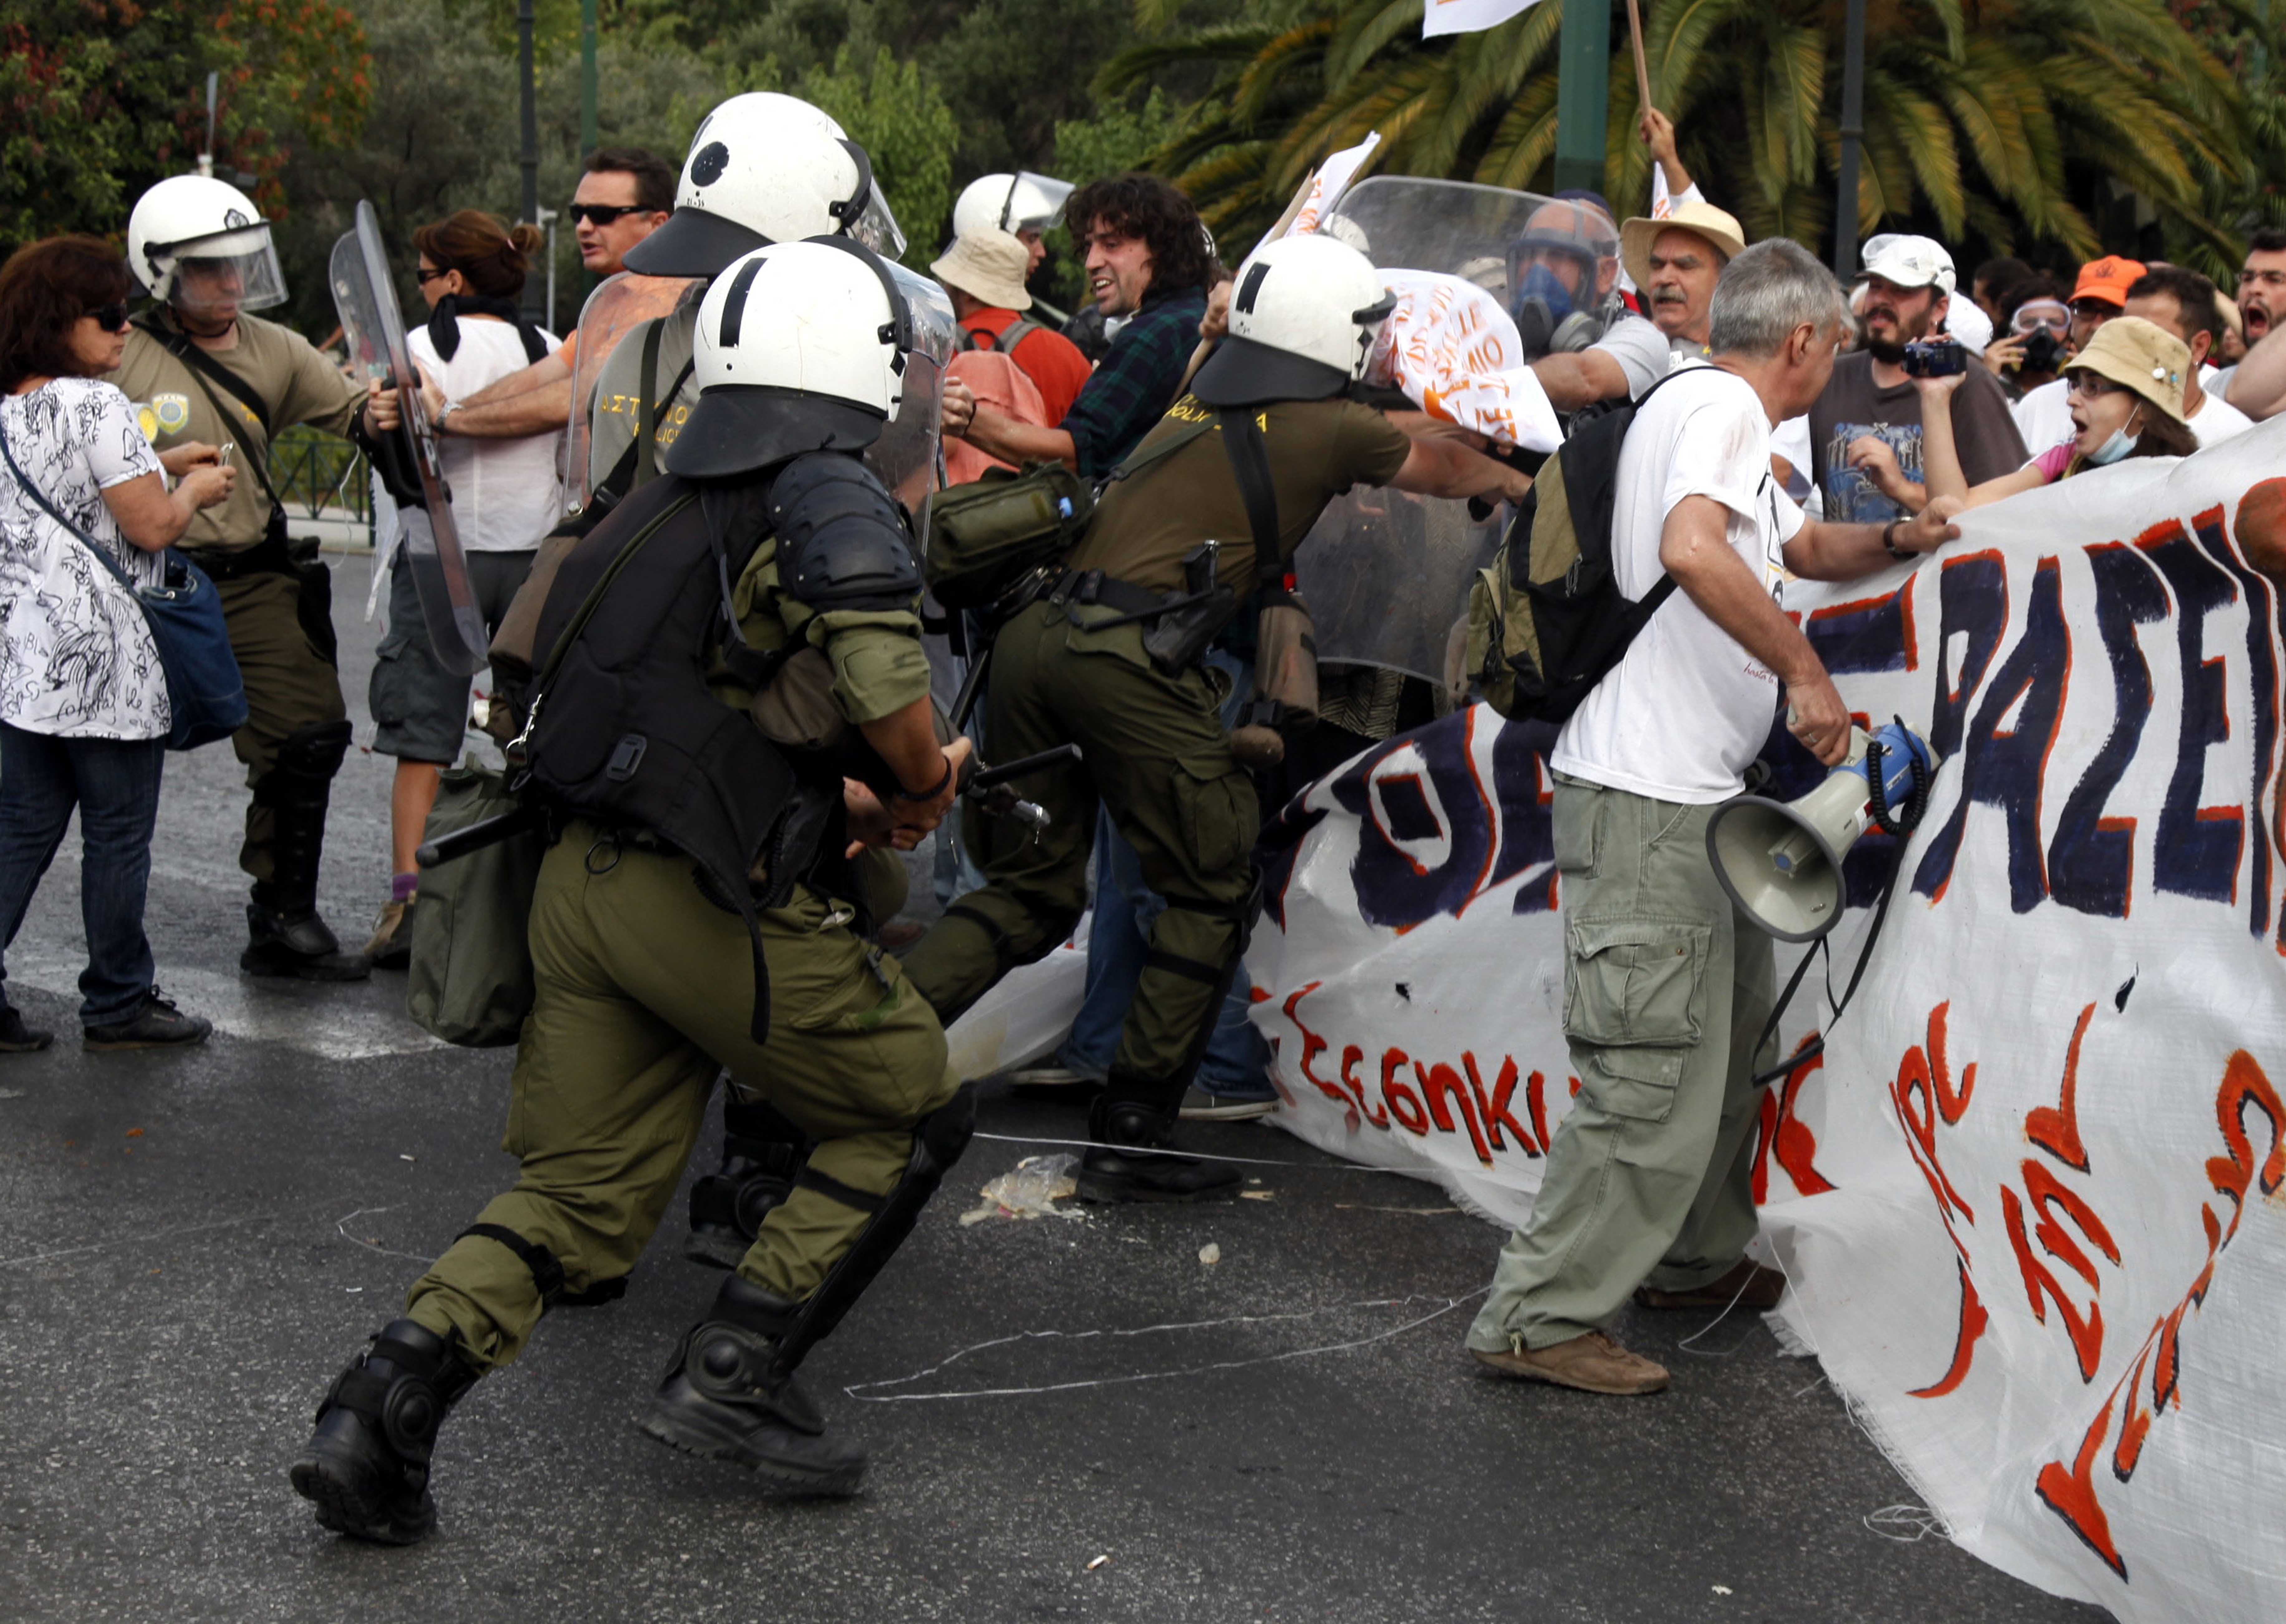
[[[1106,605],[1079,608],[1088,621]],[[1077,742],[1086,761],[1038,772],[1017,793],[1049,813],[1031,838],[969,813],[969,850],[985,886],[958,898],[905,955],[905,973],[951,1021],[1017,964],[1070,936],[1088,905],[1095,809],[1168,907],[1111,1058],[1111,1096],[1173,1112],[1198,1067],[1237,962],[1260,829],[1255,786],[1230,756],[1223,681],[1205,669],[1166,676],[1143,653],[1138,624],[1093,630],[1054,603],[1015,614],[992,642],[985,738],[992,761]]]

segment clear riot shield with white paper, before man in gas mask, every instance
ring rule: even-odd
[[[1550,215],[1554,208],[1554,215]],[[1618,231],[1593,208],[1461,180],[1372,176],[1353,185],[1319,231],[1390,272],[1399,308],[1383,324],[1369,381],[1397,384],[1433,416],[1506,443],[1552,448],[1554,413],[1529,372],[1511,283],[1534,288],[1554,224],[1586,222],[1582,251],[1561,267],[1582,290],[1609,290]],[[1534,251],[1541,258],[1534,260]],[[1520,274],[1522,272],[1522,274]],[[1376,665],[1445,681],[1468,585],[1493,562],[1504,512],[1474,521],[1465,503],[1353,489],[1319,516],[1294,557],[1294,578],[1326,665]]]

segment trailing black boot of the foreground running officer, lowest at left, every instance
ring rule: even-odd
[[[391,1320],[334,1377],[318,1430],[293,1464],[293,1492],[318,1523],[354,1539],[414,1544],[437,1526],[430,1453],[443,1414],[475,1386],[453,1345],[414,1320]]]

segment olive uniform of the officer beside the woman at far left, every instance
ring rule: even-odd
[[[279,432],[306,423],[327,434],[347,434],[363,409],[363,388],[306,338],[277,322],[240,315],[238,343],[203,354],[247,381],[270,407],[270,425]],[[274,868],[274,813],[261,793],[263,779],[277,770],[286,740],[309,738],[315,729],[338,731],[350,715],[334,669],[331,578],[315,560],[297,564],[274,548],[251,553],[270,539],[270,496],[254,473],[267,473],[270,441],[238,397],[203,381],[139,327],[128,329],[126,354],[110,381],[135,402],[144,432],[160,450],[190,441],[238,448],[231,457],[238,468],[231,500],[192,514],[178,546],[215,578],[231,628],[231,653],[245,676],[247,724],[231,738],[231,747],[247,765],[247,786],[256,797],[247,806],[238,866],[256,882],[267,882]],[[217,400],[222,411],[215,409]]]

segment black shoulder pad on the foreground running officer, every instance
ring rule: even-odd
[[[770,487],[777,578],[812,610],[910,610],[921,596],[905,509],[855,457],[796,457]]]

